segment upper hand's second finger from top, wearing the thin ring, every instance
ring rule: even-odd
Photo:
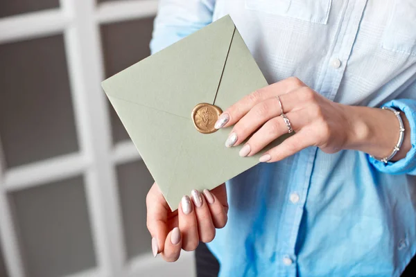
[[[284,109],[287,113],[290,112],[293,107],[299,105],[299,96],[297,96],[297,93],[288,93],[285,96],[286,101]],[[264,123],[280,114],[281,109],[279,100],[276,97],[260,102],[250,109],[250,111],[234,125],[225,145],[227,147],[239,145]]]

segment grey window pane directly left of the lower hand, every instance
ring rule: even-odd
[[[146,228],[146,195],[153,178],[143,161],[117,167],[119,193],[128,258],[150,253],[151,237]]]

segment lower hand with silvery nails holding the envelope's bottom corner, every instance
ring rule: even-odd
[[[214,240],[216,228],[227,223],[227,190],[225,184],[214,190],[192,190],[172,212],[157,184],[146,197],[147,227],[152,235],[153,255],[162,254],[166,262],[175,262],[180,250],[193,251],[199,242]]]

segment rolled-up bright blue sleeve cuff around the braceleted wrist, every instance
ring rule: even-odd
[[[392,107],[400,110],[406,115],[409,121],[410,129],[406,129],[404,132],[410,134],[410,143],[412,148],[404,159],[399,161],[389,161],[383,163],[368,155],[370,163],[379,171],[388,174],[408,174],[416,175],[416,100],[413,99],[398,99],[387,102],[383,107]]]

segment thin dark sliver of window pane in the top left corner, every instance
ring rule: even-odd
[[[58,7],[59,0],[3,0],[0,1],[0,17]]]

